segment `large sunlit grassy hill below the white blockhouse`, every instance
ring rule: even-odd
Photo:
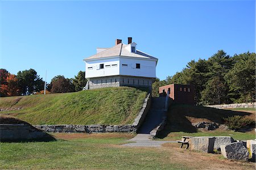
[[[135,88],[104,88],[75,93],[3,97],[0,114],[32,125],[124,125],[133,123],[146,92]]]

